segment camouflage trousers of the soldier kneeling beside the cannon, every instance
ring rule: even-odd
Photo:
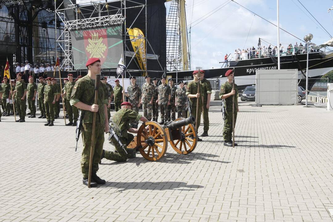
[[[131,133],[127,133],[127,137],[120,137],[120,141],[123,144],[130,144],[130,142],[133,140],[134,135]],[[120,147],[120,145],[118,144],[118,141],[115,138],[112,138],[112,143],[115,146],[116,150],[118,153],[113,152],[113,151],[109,151],[109,150],[104,150],[105,154],[104,157],[108,160],[114,160],[114,161],[118,161],[118,162],[125,162],[127,160],[127,154],[124,151],[123,148]]]

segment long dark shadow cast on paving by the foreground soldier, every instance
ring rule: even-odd
[[[203,188],[201,185],[187,185],[185,182],[165,181],[165,182],[106,182],[100,187],[118,188],[117,192],[125,190],[195,190],[191,188]],[[179,189],[177,189],[179,188]]]

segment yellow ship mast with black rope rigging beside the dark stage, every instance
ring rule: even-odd
[[[171,1],[166,19],[166,68],[168,71],[185,71],[190,66],[185,0],[166,1]]]

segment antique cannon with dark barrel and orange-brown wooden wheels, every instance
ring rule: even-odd
[[[157,161],[165,155],[169,141],[177,153],[188,154],[194,150],[197,143],[194,121],[193,116],[177,118],[163,126],[154,121],[147,121],[140,126],[138,135],[127,146],[127,150],[131,154],[131,151],[139,149],[144,158]],[[191,136],[193,137],[190,138]]]

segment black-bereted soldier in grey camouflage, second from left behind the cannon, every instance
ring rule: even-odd
[[[153,84],[150,83],[150,76],[145,77],[146,83],[142,85],[142,109],[144,111],[144,116],[150,121],[152,120],[153,112],[153,100],[155,88]]]

